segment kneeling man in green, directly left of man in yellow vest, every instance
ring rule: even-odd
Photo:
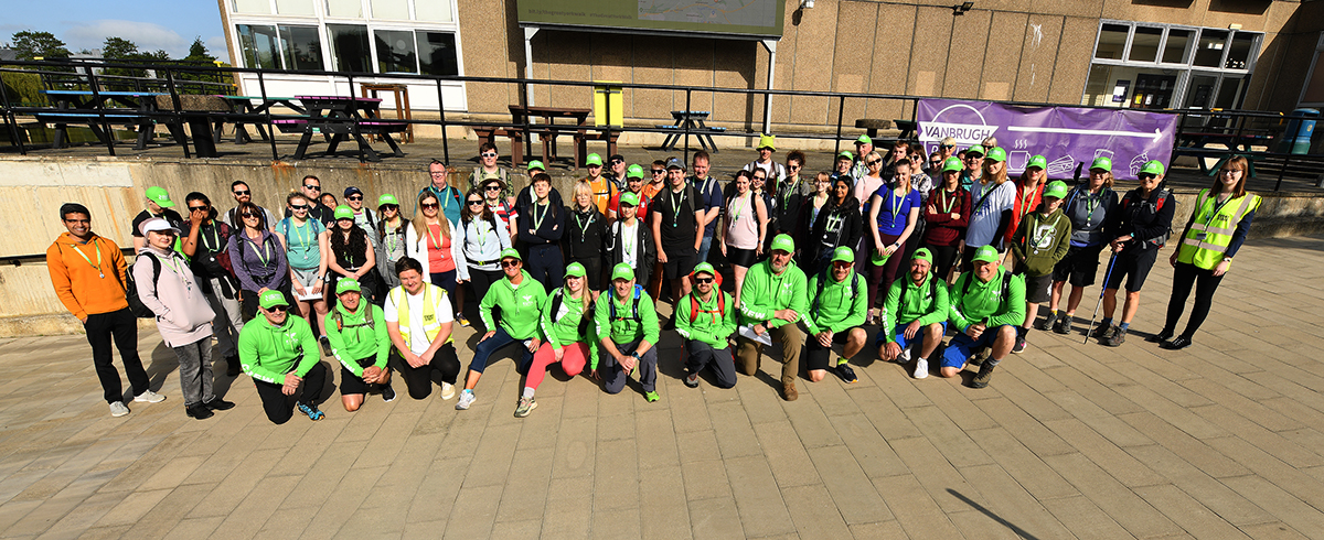
[[[344,410],[359,410],[371,385],[380,389],[383,401],[395,400],[396,390],[391,388],[391,369],[387,367],[391,335],[381,308],[363,300],[363,286],[354,278],[336,282],[335,295],[339,302],[323,324],[331,340],[331,356],[340,363],[340,402]]]

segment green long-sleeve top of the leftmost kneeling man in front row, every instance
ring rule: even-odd
[[[291,369],[302,379],[319,360],[318,340],[302,316],[286,315],[281,326],[258,316],[240,331],[240,365],[254,380],[285,384]]]

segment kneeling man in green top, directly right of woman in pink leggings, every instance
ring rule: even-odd
[[[620,263],[612,269],[612,290],[597,299],[593,320],[602,347],[593,359],[593,379],[601,379],[606,393],[621,393],[634,368],[639,368],[643,398],[658,400],[658,314],[653,298],[634,283],[634,270]],[[622,351],[629,351],[626,355]]]

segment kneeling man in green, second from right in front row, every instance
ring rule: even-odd
[[[933,254],[928,248],[915,250],[910,275],[898,279],[883,302],[883,327],[878,331],[878,357],[883,361],[908,363],[915,359],[915,379],[928,377],[928,357],[947,334],[951,306],[947,282],[933,275]],[[918,338],[918,340],[916,340]],[[919,355],[912,351],[919,345]],[[960,369],[952,371],[956,375]],[[947,375],[944,368],[944,377]]]

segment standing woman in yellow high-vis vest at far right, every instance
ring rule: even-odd
[[[1181,244],[1169,259],[1173,274],[1168,322],[1153,338],[1162,348],[1176,351],[1190,345],[1190,338],[1209,315],[1218,283],[1223,281],[1233,257],[1246,241],[1250,222],[1260,204],[1258,195],[1246,192],[1246,158],[1233,156],[1218,171],[1214,185],[1196,197],[1196,208],[1181,233]],[[1196,287],[1196,307],[1190,310],[1186,330],[1173,338],[1192,285]]]

